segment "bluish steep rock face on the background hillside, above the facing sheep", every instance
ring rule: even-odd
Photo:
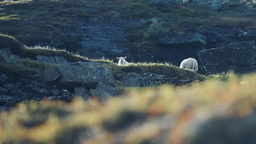
[[[137,21],[119,18],[113,11],[113,17],[91,17],[79,22],[76,26],[77,32],[82,32],[79,53],[89,58],[114,58],[127,53],[124,27]]]

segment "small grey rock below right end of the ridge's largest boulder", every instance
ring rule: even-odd
[[[105,101],[115,95],[115,88],[108,83],[99,82],[96,89],[91,89],[89,93],[101,101]]]

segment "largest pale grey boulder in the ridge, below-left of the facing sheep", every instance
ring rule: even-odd
[[[94,66],[92,66],[94,65]],[[108,68],[97,67],[97,63],[93,62],[74,62],[71,65],[66,65],[58,68],[61,74],[62,83],[91,84],[100,81],[105,83],[114,83],[113,74]]]

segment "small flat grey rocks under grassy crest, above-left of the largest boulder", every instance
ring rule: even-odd
[[[37,61],[42,63],[71,64],[71,62],[68,62],[66,58],[58,56],[47,57],[38,55]]]

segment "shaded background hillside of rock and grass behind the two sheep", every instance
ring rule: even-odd
[[[27,46],[66,49],[88,58],[127,56],[130,62],[179,65],[183,59],[194,57],[202,74],[230,69],[247,73],[255,70],[255,3],[2,1],[0,32]],[[241,55],[230,55],[236,51]],[[245,55],[247,59],[241,62]]]

